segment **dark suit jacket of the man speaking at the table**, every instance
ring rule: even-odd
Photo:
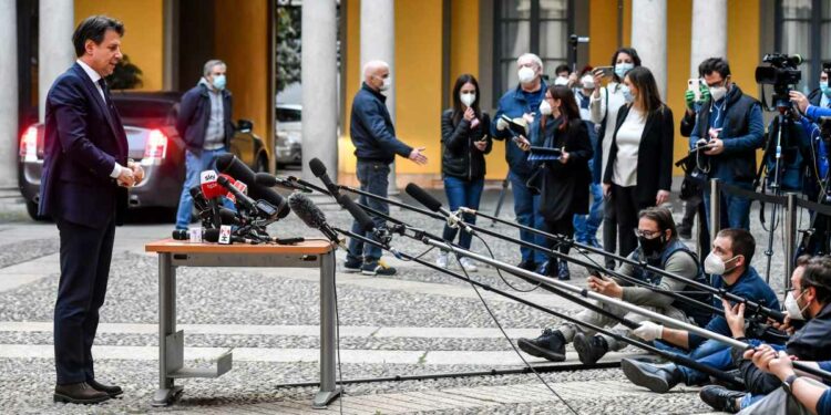
[[[115,107],[107,108],[78,63],[47,96],[40,215],[99,228],[126,209],[127,191],[110,174],[127,165],[127,137]]]

